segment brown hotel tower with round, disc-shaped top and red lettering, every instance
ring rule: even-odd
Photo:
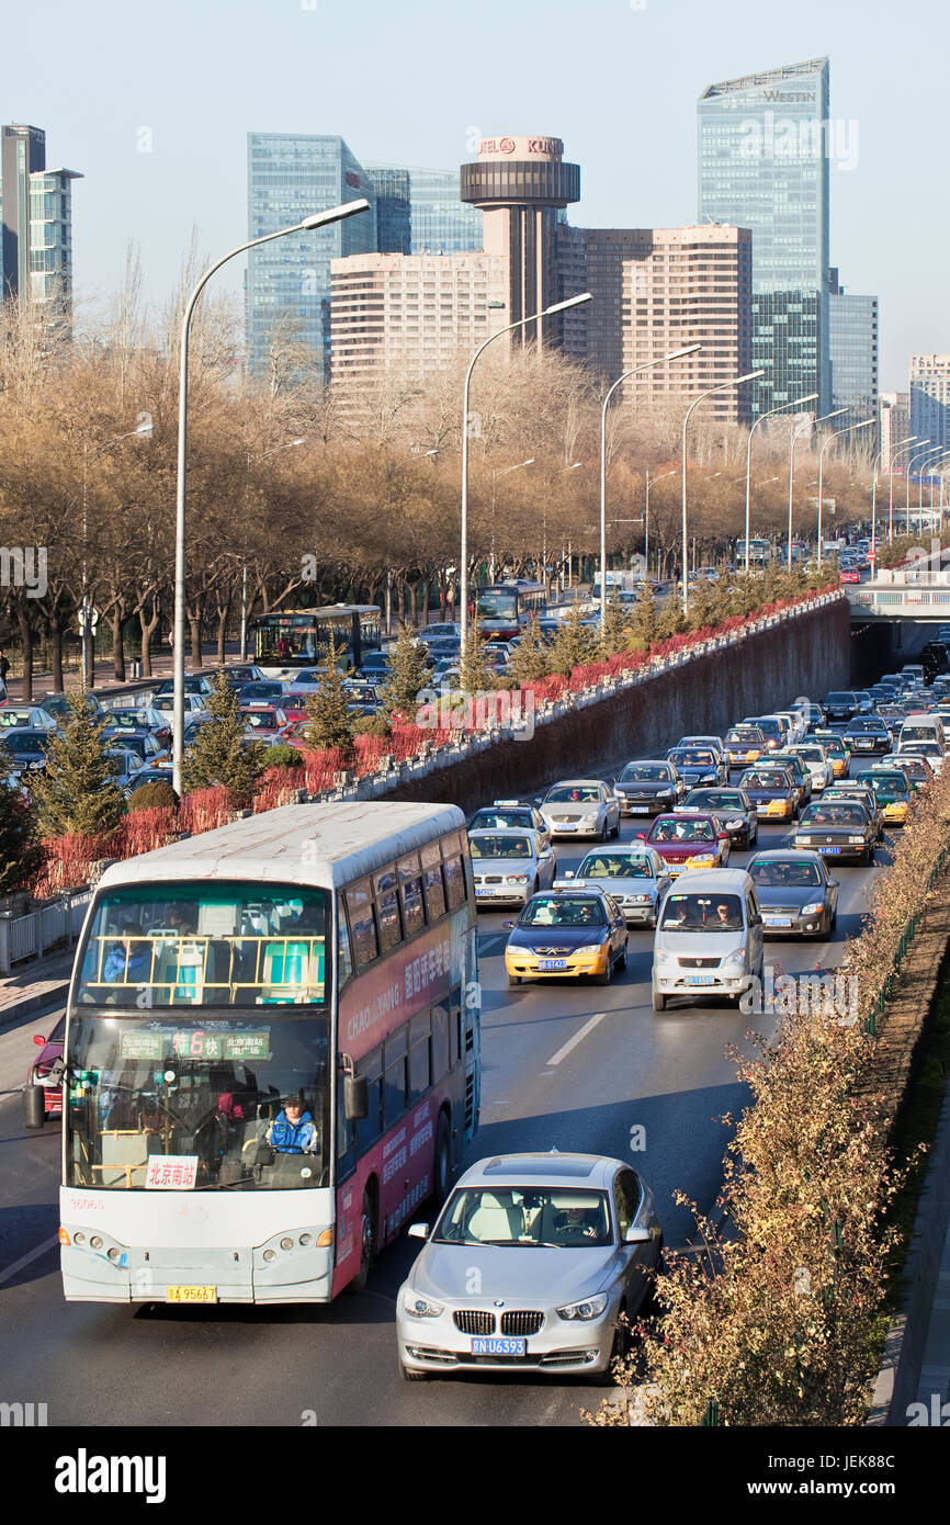
[[[561,139],[483,139],[477,162],[462,165],[461,194],[462,201],[482,209],[485,253],[508,265],[508,322],[560,300],[557,230],[564,209],[581,198],[581,169],[564,162]],[[563,337],[564,325],[555,314],[526,323],[509,343],[560,345]]]

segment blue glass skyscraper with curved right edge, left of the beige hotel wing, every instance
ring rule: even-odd
[[[247,259],[247,360],[267,371],[274,339],[307,345],[320,378],[329,375],[329,261],[377,247],[371,178],[342,137],[247,134],[247,236],[259,238],[343,201],[366,197],[369,212],[313,233],[288,233]]]

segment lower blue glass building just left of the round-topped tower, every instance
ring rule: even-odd
[[[482,249],[482,214],[459,200],[457,169],[419,169],[418,166],[367,162],[377,197],[386,204],[386,226],[380,218],[381,255],[468,255]],[[378,203],[380,204],[380,203]],[[409,221],[409,247],[406,236]]]

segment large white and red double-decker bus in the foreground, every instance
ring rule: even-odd
[[[285,805],[113,865],[66,1017],[67,1301],[328,1302],[479,1115],[454,805]]]

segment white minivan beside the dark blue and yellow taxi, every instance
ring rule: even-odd
[[[677,878],[657,912],[653,939],[653,1010],[671,996],[727,996],[762,979],[762,917],[743,868],[692,869]]]

